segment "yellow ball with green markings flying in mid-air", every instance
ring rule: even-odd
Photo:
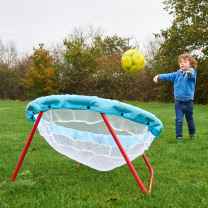
[[[121,58],[121,66],[127,72],[137,73],[144,68],[145,57],[141,51],[130,49]]]

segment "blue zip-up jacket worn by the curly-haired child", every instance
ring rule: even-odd
[[[191,71],[194,74],[188,74],[185,77],[185,72]],[[159,79],[166,81],[174,81],[174,97],[176,100],[193,100],[195,85],[196,85],[196,70],[190,68],[184,73],[179,69],[177,72],[160,74]]]

